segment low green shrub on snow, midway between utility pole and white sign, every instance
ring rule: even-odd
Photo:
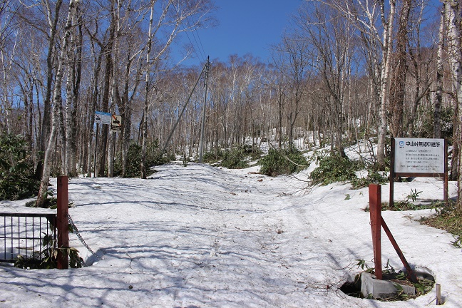
[[[294,147],[279,150],[271,148],[268,155],[260,158],[259,163],[260,173],[270,176],[297,173],[308,166],[302,152]]]

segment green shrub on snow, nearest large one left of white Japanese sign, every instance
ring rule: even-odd
[[[314,185],[328,185],[356,179],[356,170],[359,170],[359,163],[334,153],[319,158],[319,166],[312,171],[309,177],[313,180]]]

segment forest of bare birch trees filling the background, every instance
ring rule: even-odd
[[[215,9],[213,0],[1,2],[0,133],[26,139],[39,200],[51,175],[128,176],[133,145],[145,178],[202,69],[172,53],[191,56],[184,35],[214,26]],[[270,61],[212,58],[207,91],[200,82],[168,153],[197,153],[204,101],[209,153],[305,138],[344,155],[364,140],[384,170],[389,138],[446,138],[461,200],[458,1],[301,1],[291,25]],[[96,111],[120,115],[122,131],[97,130]]]

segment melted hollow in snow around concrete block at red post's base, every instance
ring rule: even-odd
[[[383,272],[383,279],[376,279],[373,272],[359,272],[354,280],[345,282],[340,289],[351,297],[378,299],[384,302],[414,299],[433,289],[435,278],[426,268],[419,268],[414,272],[418,282],[413,283],[406,277],[406,273],[394,270]]]

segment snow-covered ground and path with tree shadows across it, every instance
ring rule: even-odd
[[[88,267],[21,270],[0,266],[0,307],[427,307],[432,292],[406,302],[349,297],[339,288],[373,266],[367,188],[307,190],[293,177],[257,168],[190,163],[156,167],[149,180],[73,178],[69,213],[98,260],[70,235]],[[303,175],[299,175],[303,178]],[[56,180],[54,181],[56,183]],[[396,183],[421,200],[442,199],[438,179]],[[388,185],[382,199],[388,200]],[[449,184],[450,197],[456,184]],[[347,194],[349,200],[345,200]],[[31,210],[0,201],[1,211]],[[46,210],[48,211],[48,210]],[[431,270],[443,307],[462,307],[462,252],[453,237],[420,225],[430,210],[383,212],[411,266]],[[383,263],[399,257],[382,233]],[[433,302],[432,302],[433,301]]]

